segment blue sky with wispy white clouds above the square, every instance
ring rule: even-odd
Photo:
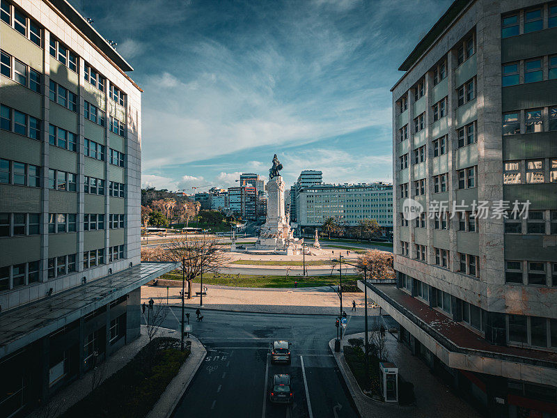
[[[390,88],[450,0],[70,0],[143,88],[143,187],[392,181]]]

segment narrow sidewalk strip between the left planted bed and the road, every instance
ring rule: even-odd
[[[170,418],[176,406],[182,400],[182,396],[184,396],[191,380],[196,376],[199,367],[207,355],[207,350],[205,350],[203,344],[195,336],[190,334],[189,339],[191,340],[191,353],[189,357],[180,367],[178,374],[168,383],[168,386],[159,400],[153,405],[146,418]],[[197,361],[193,368],[191,368],[190,359]]]

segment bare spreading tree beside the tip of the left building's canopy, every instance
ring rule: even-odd
[[[147,253],[145,253],[147,254]],[[142,254],[143,256],[143,254]],[[212,237],[200,237],[196,240],[177,238],[148,254],[152,261],[173,261],[182,263],[182,274],[187,280],[187,298],[191,299],[191,287],[194,279],[201,272],[217,273],[228,263],[222,246]]]

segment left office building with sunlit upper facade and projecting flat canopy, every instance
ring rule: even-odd
[[[139,336],[141,88],[65,0],[0,5],[0,415]]]

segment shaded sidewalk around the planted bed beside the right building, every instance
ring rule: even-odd
[[[340,344],[341,352],[334,352],[334,339],[329,341],[329,348],[333,353],[340,373],[345,379],[346,385],[354,398],[354,403],[359,410],[361,418],[407,418],[407,417],[427,417],[427,418],[479,418],[480,414],[459,398],[441,382],[437,376],[432,375],[430,369],[418,357],[411,355],[410,350],[399,343],[389,332],[386,333],[387,356],[398,367],[400,376],[414,384],[414,394],[416,394],[416,405],[400,406],[398,404],[388,404],[373,401],[364,395],[348,364],[345,362],[342,348],[348,345],[348,339],[365,338],[364,333],[350,334],[343,337]]]

